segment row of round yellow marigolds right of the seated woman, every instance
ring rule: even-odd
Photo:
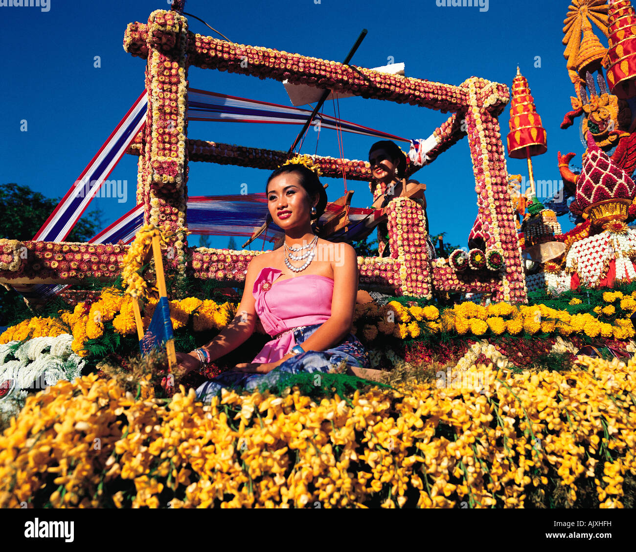
[[[620,292],[616,293],[620,294]],[[614,295],[612,294],[612,297]],[[622,297],[622,294],[620,297],[616,295],[616,299]],[[404,306],[397,301],[391,301],[384,306],[373,303],[356,305],[354,323],[364,319],[363,334],[367,341],[372,341],[377,336],[380,336],[380,339],[382,336],[410,339],[420,336],[423,331],[457,332],[460,336],[483,336],[488,330],[495,335],[508,333],[517,336],[527,332],[532,335],[537,333],[560,336],[586,334],[588,337],[630,339],[635,332],[629,316],[632,315],[632,308],[636,311],[636,300],[633,297],[623,298],[620,308],[625,317],[617,318],[613,323],[607,323],[590,313],[570,315],[567,311],[552,309],[543,304],[525,306],[500,302],[481,306],[467,301],[446,308],[440,313],[434,306],[424,308],[417,305]],[[604,308],[598,306],[595,312],[597,316],[611,316],[616,314],[616,311],[614,306],[607,305]],[[377,332],[373,332],[373,324],[370,323],[369,318],[371,321],[374,318],[379,319]],[[354,325],[354,333],[356,331],[357,326]]]

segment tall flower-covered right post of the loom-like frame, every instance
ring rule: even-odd
[[[466,128],[473,159],[477,205],[487,255],[490,251],[499,251],[505,260],[494,301],[526,302],[521,249],[508,190],[501,129],[495,114],[495,106],[505,105],[507,98],[501,97],[501,90],[493,84],[473,77],[462,85],[468,89]]]

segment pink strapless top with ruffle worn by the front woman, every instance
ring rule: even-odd
[[[276,283],[280,274],[280,269],[263,268],[252,289],[256,313],[263,329],[270,336],[294,327],[322,324],[329,320],[333,297],[331,278],[319,274],[301,274]],[[252,362],[276,362],[289,353],[295,344],[294,332],[288,332],[268,341]]]

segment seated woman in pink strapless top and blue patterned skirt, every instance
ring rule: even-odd
[[[197,395],[204,401],[221,388],[263,388],[281,374],[328,372],[342,361],[370,368],[368,353],[351,333],[356,250],[312,229],[327,204],[318,174],[304,164],[285,164],[273,171],[265,191],[269,215],[285,232],[283,246],[251,260],[234,320],[211,343],[177,353],[177,361],[186,373],[204,368],[245,343],[258,318],[273,339],[252,362],[201,385]]]

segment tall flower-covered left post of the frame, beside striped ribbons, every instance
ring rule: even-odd
[[[148,112],[142,139],[141,199],[144,223],[177,232],[165,264],[185,269],[188,180],[188,22],[174,11],[156,10],[148,19],[146,92]]]

